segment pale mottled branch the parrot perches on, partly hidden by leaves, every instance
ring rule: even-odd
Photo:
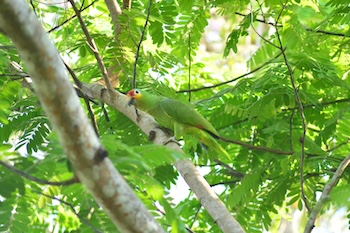
[[[118,96],[118,101],[113,101],[113,97],[109,92],[104,90],[105,88],[102,85],[96,83],[83,85],[83,91],[86,95],[91,98],[96,98],[122,112],[135,122],[146,135],[150,135],[152,132],[152,134],[155,135],[153,137],[153,143],[159,145],[166,144],[167,147],[183,153],[177,143],[169,142],[169,135],[160,129],[153,117],[140,110],[138,110],[138,114],[136,114],[134,108],[126,107],[128,105],[128,98],[125,95],[115,91],[116,93],[114,95]],[[199,174],[190,160],[176,161],[174,166],[223,232],[244,232],[242,227],[231,216],[224,203],[210,188],[208,182]]]

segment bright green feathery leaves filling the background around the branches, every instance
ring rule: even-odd
[[[60,3],[31,2],[79,80],[100,79],[77,19],[71,18],[73,10]],[[106,66],[121,71],[117,88],[125,93],[131,88],[149,1],[133,1],[131,10],[123,10],[118,41],[104,2],[80,3],[87,7],[83,19]],[[349,12],[348,2],[341,0],[287,1],[285,5],[273,0],[261,5],[245,0],[168,0],[151,6],[138,55],[137,85],[195,103],[225,138],[291,152],[282,155],[221,141],[232,160],[219,155],[218,163],[205,156],[206,149],[193,139],[186,144],[188,154],[207,171],[207,181],[220,187],[221,199],[247,232],[273,228],[281,220],[273,221],[274,216],[288,214],[292,206],[305,209],[301,160],[305,196],[313,207],[317,193],[349,154]],[[220,38],[221,47],[211,51],[214,36]],[[25,68],[22,72],[14,64],[24,65],[11,42],[0,34],[0,159],[42,180],[68,180],[73,170],[35,92],[27,88]],[[255,72],[236,78],[246,70]],[[219,85],[202,88],[214,84]],[[182,91],[187,89],[193,92]],[[137,126],[112,108],[92,103],[92,109],[110,158],[164,228],[219,231],[192,194],[180,203],[172,200],[169,193],[178,174],[171,162],[179,155],[150,144]],[[347,168],[331,193],[330,204],[335,208],[345,206],[349,211],[349,183]],[[54,228],[55,232],[115,232],[80,184],[38,184],[0,166],[0,187],[6,187],[0,188],[1,232]]]

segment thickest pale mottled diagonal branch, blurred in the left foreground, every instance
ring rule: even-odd
[[[0,1],[0,28],[33,86],[82,184],[121,232],[164,232],[107,157],[52,41],[24,0]]]

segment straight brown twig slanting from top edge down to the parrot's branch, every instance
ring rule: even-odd
[[[95,59],[97,61],[97,64],[101,70],[101,73],[102,73],[102,77],[103,77],[103,80],[105,81],[105,84],[106,84],[106,87],[107,87],[107,90],[110,91],[112,93],[111,90],[113,90],[113,87],[112,87],[112,84],[111,84],[111,81],[109,80],[109,77],[108,77],[108,72],[107,72],[107,69],[103,63],[103,60],[98,52],[98,48],[95,44],[95,41],[94,39],[91,37],[82,17],[81,17],[81,12],[80,10],[77,8],[77,6],[75,5],[74,3],[74,0],[68,0],[70,2],[70,4],[72,5],[73,7],[73,10],[75,12],[75,14],[77,15],[78,17],[78,20],[79,20],[79,23],[80,23],[80,27],[81,29],[83,30],[85,36],[86,36],[86,39],[87,39],[87,42],[88,42],[88,45],[90,46],[92,52],[94,53],[95,55]]]

